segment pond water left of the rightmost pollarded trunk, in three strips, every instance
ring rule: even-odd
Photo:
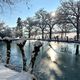
[[[24,51],[26,54],[26,63],[27,65],[30,64],[31,53],[33,49],[34,41],[27,41],[24,46]],[[0,42],[0,54],[2,56],[2,62],[6,63],[6,43]],[[22,70],[22,55],[19,47],[16,44],[16,41],[11,43],[11,55],[10,55],[10,65],[16,66],[19,70]]]

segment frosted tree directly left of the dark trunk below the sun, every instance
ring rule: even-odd
[[[39,27],[42,31],[42,39],[44,39],[44,30],[46,28],[46,18],[47,18],[47,11],[44,9],[40,9],[39,11],[36,12],[35,14],[36,17],[36,26]]]

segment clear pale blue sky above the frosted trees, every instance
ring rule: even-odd
[[[27,17],[34,16],[41,8],[48,12],[54,12],[59,5],[60,0],[31,0],[28,5],[30,9],[24,3],[18,3],[11,8],[6,6],[3,13],[0,14],[0,20],[4,21],[9,27],[15,27],[18,17],[25,20]]]

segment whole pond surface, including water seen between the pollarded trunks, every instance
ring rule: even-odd
[[[27,40],[24,46],[27,65],[31,60],[34,42],[34,40]],[[76,46],[79,44],[47,41],[42,41],[42,43],[43,46],[40,48],[33,69],[38,80],[80,80],[80,56],[75,55]],[[5,63],[6,44],[4,42],[0,42],[0,54],[2,62]],[[16,41],[11,43],[10,56],[10,64],[22,70],[22,56]]]

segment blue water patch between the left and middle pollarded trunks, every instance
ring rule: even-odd
[[[17,46],[16,42],[12,42],[10,64],[21,68],[22,63],[23,62],[22,62],[22,56],[21,56],[20,48]]]

